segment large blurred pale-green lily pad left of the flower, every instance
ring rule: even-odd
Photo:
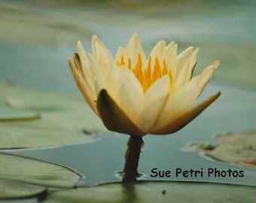
[[[0,92],[0,148],[78,144],[108,132],[82,98],[6,84]]]

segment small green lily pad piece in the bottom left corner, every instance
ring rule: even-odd
[[[38,197],[46,194],[47,188],[45,186],[0,179],[0,201],[2,199]]]

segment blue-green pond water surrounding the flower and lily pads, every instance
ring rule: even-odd
[[[221,67],[201,98],[221,90],[221,98],[181,131],[171,136],[145,137],[139,162],[142,179],[151,170],[244,170],[244,177],[166,177],[165,180],[205,180],[256,185],[256,171],[215,162],[198,152],[181,150],[191,141],[215,144],[212,135],[255,130],[256,2],[251,1],[0,1],[0,82],[66,92],[80,96],[67,59],[80,39],[90,52],[92,35],[115,53],[133,32],[150,53],[160,39],[178,42],[178,50],[200,47],[197,71],[215,59]],[[126,135],[98,135],[90,144],[38,150],[16,150],[25,156],[67,165],[86,177],[81,184],[120,180]],[[202,169],[201,169],[202,168]],[[159,178],[158,178],[159,179]]]

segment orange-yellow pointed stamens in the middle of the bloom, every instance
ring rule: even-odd
[[[169,76],[170,85],[173,81],[172,72],[167,68],[166,60],[163,59],[163,65],[160,65],[159,59],[156,57],[154,65],[151,67],[151,56],[148,58],[147,65],[142,67],[142,56],[139,54],[137,63],[134,67],[131,67],[131,59],[128,58],[127,62],[124,61],[123,56],[120,58],[120,62],[117,62],[118,66],[125,66],[137,77],[139,82],[142,84],[144,92],[147,92],[148,88],[156,82],[160,77]]]

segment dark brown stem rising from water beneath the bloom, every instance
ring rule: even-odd
[[[123,168],[123,182],[135,181],[139,177],[137,171],[139,156],[143,147],[141,136],[131,135],[127,141],[127,150],[125,153],[125,165]]]

